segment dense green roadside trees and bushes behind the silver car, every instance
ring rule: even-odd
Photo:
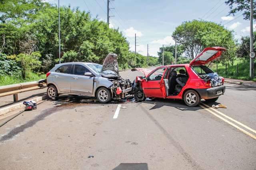
[[[42,0],[0,3],[0,86],[38,80],[58,59],[58,8]],[[120,69],[157,64],[156,57],[129,51],[118,29],[79,8],[60,8],[61,62],[102,64],[108,53],[118,55]]]

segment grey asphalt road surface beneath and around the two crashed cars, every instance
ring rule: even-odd
[[[0,127],[0,169],[256,169],[256,89],[226,88],[217,101],[226,109],[48,100]]]

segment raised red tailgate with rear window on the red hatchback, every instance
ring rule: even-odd
[[[197,55],[189,64],[190,65],[204,65],[210,61],[220,57],[222,51],[226,51],[222,47],[207,47],[199,55]]]

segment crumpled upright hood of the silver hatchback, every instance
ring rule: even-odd
[[[106,70],[114,71],[116,74],[118,73],[118,64],[117,64],[117,55],[115,53],[109,53],[102,64],[101,72]]]

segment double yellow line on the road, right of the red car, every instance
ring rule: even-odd
[[[206,105],[206,104],[204,104],[204,105]],[[216,109],[213,109],[214,111],[216,111],[216,112],[219,113],[220,115],[224,116],[224,117],[221,117],[221,116],[218,115],[217,113],[215,113],[215,112],[213,112],[212,110],[210,110],[211,107],[208,106],[208,105],[206,105],[206,107],[204,107],[204,106],[202,106],[201,104],[199,104],[199,106],[202,107],[203,109],[205,109],[206,111],[210,112],[212,115],[214,115],[214,116],[216,116],[216,117],[222,119],[222,120],[225,121],[226,123],[232,125],[232,126],[235,127],[236,129],[242,131],[242,132],[245,133],[246,135],[252,137],[253,139],[256,139],[256,136],[255,136],[255,135],[253,135],[252,133],[249,133],[248,131],[242,129],[242,128],[239,127],[238,125],[235,125],[234,123],[228,121],[228,120],[225,119],[224,117],[226,117],[226,118],[228,118],[228,119],[230,119],[230,120],[236,122],[237,124],[239,124],[239,125],[241,125],[241,126],[243,126],[243,127],[245,127],[245,128],[248,127],[248,126],[246,126],[246,125],[244,125],[244,124],[242,124],[242,123],[240,123],[240,122],[238,122],[238,121],[232,119],[231,117],[228,117],[227,115],[225,115],[224,113],[221,113],[220,111],[217,111]],[[207,107],[207,106],[208,106],[208,107]],[[248,127],[248,128],[251,129],[250,127]],[[246,128],[246,129],[248,129],[248,128]],[[252,130],[253,132],[255,131],[255,130],[253,130],[253,129],[251,129],[251,130]]]

